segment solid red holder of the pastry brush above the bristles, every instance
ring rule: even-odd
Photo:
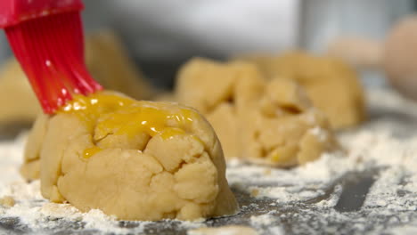
[[[0,28],[21,21],[84,9],[81,0],[0,0]]]

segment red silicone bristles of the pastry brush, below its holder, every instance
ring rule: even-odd
[[[65,12],[6,28],[6,35],[45,113],[72,99],[102,90],[86,69],[78,12]]]

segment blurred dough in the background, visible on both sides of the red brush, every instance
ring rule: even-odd
[[[108,89],[127,93],[138,100],[153,95],[151,86],[128,60],[117,36],[109,31],[86,37],[86,64],[93,77]],[[41,112],[28,79],[14,59],[0,68],[0,107],[0,126],[31,123]]]

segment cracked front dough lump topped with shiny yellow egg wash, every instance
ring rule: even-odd
[[[67,107],[79,105],[39,117],[29,136],[22,169],[40,162],[46,199],[123,220],[235,213],[220,143],[194,109],[114,93]]]

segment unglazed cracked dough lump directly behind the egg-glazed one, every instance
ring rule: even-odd
[[[281,78],[266,82],[249,62],[194,59],[180,70],[176,97],[206,115],[227,158],[296,166],[339,147],[300,86]]]

